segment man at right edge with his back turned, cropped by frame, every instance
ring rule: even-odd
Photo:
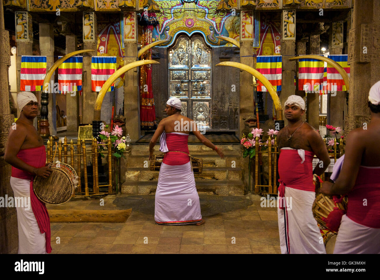
[[[339,176],[321,188],[328,195],[348,194],[334,254],[380,254],[380,81],[369,91],[368,107],[370,124],[348,134]]]

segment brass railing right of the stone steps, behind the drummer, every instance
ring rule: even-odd
[[[325,143],[327,147],[326,139],[323,139],[323,142]],[[341,146],[338,149],[337,148],[338,144],[336,142],[336,139],[334,138],[334,145],[332,146],[332,152],[329,152],[329,157],[334,159],[334,163],[336,162],[337,158],[343,155],[343,148],[344,148],[343,139],[340,140],[340,143],[341,143],[340,144]],[[268,150],[261,151],[261,146],[265,146],[265,145],[268,145]],[[263,160],[263,157],[260,156],[262,154],[268,154],[268,185],[259,184],[259,181],[261,182],[261,175],[264,173],[263,164],[260,162]],[[278,155],[279,155],[279,150],[277,146],[277,137],[274,137],[273,145],[272,145],[271,136],[269,136],[268,138],[268,144],[259,143],[259,137],[255,138],[254,190],[256,193],[277,194],[277,188],[279,186],[277,182]],[[314,156],[314,158],[317,158],[317,157]],[[325,180],[325,173],[328,173],[328,172],[324,172],[320,176],[322,180]]]

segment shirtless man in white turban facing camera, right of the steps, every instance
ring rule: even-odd
[[[326,253],[323,242],[319,242],[321,234],[312,214],[316,188],[313,174],[321,175],[330,159],[320,134],[302,121],[305,109],[304,100],[291,95],[285,101],[288,125],[277,134],[280,151],[277,214],[283,254]],[[323,164],[318,163],[312,170],[314,154]],[[289,202],[291,205],[283,205]]]

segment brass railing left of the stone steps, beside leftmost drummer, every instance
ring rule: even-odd
[[[76,145],[76,153],[74,153],[74,145]],[[104,152],[99,152],[99,146],[106,146],[107,150]],[[68,148],[70,147],[70,154],[68,154]],[[78,138],[77,143],[74,144],[71,139],[70,145],[67,143],[67,137],[64,138],[63,144],[59,140],[58,141],[58,161],[63,162],[65,164],[70,164],[78,175],[78,185],[75,189],[73,196],[93,196],[100,194],[108,194],[112,192],[112,145],[111,138],[108,137],[108,141],[106,144],[98,144],[96,138],[93,138],[91,141],[91,150],[92,153],[87,153],[86,150],[86,142],[85,140],[81,140]],[[62,154],[63,151],[63,154]],[[53,162],[54,159],[53,153],[53,137],[50,137],[47,141],[46,148],[46,161],[48,163]],[[99,185],[99,173],[98,173],[98,155],[99,154],[107,154],[107,162],[108,162],[108,185]],[[92,156],[92,182],[93,182],[93,191],[89,191],[89,182],[87,177],[87,157]],[[70,163],[68,159],[70,158]],[[82,167],[83,162],[83,167]],[[81,187],[81,175],[83,168],[83,176],[84,176],[84,192],[82,192]],[[107,192],[99,192],[99,187],[108,187]]]

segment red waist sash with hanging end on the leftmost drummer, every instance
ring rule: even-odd
[[[32,165],[33,167],[43,167],[45,166],[46,162],[45,146],[20,150],[17,154],[17,157],[24,161],[26,164]],[[37,224],[40,228],[41,233],[46,233],[46,253],[51,253],[50,218],[49,214],[47,213],[45,204],[38,199],[33,191],[33,180],[35,175],[12,166],[12,177],[30,180],[30,204],[32,205],[32,211],[36,217]]]

